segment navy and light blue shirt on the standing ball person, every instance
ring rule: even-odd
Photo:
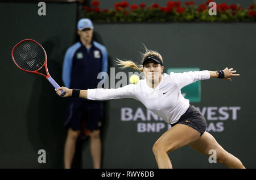
[[[63,62],[62,78],[69,89],[96,89],[98,73],[108,73],[108,52],[104,45],[93,41],[86,49],[79,41],[68,48]]]

